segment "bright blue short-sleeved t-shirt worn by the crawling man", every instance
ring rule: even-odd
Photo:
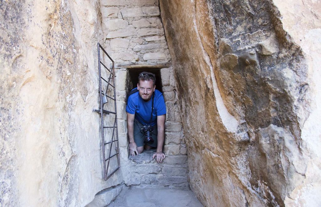
[[[134,114],[135,119],[144,125],[156,125],[157,116],[166,114],[166,106],[163,94],[159,90],[155,90],[154,110],[152,121],[150,123],[152,113],[152,98],[149,101],[144,101],[142,97],[140,97],[139,92],[133,93],[128,97],[126,112],[129,114]]]

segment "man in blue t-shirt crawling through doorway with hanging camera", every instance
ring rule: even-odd
[[[127,106],[127,131],[129,137],[130,155],[135,156],[142,153],[144,148],[157,147],[156,162],[161,163],[165,158],[162,152],[165,136],[165,115],[166,106],[163,94],[155,90],[155,75],[149,72],[142,72],[138,76],[137,92],[133,89],[130,93]],[[134,92],[134,93],[133,93]],[[145,134],[141,128],[146,125],[153,126],[153,143],[144,143]]]

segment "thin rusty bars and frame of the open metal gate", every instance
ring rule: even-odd
[[[104,48],[99,43],[97,44],[97,47],[98,47],[98,72],[99,72],[99,77],[100,77],[99,78],[100,109],[99,110],[94,109],[94,111],[100,114],[100,131],[101,131],[102,156],[103,156],[102,161],[103,161],[103,166],[104,166],[104,178],[105,178],[105,180],[107,180],[108,178],[110,178],[120,168],[119,145],[118,145],[118,130],[117,130],[118,128],[117,128],[117,110],[116,110],[116,91],[115,91],[115,68],[114,68],[115,63],[114,63],[114,60],[111,59],[111,57],[108,55],[108,53],[104,50]],[[112,67],[110,68],[110,70],[100,60],[100,49],[105,53],[105,55],[109,58],[109,60],[112,61]],[[107,78],[105,79],[105,78],[103,78],[101,76],[100,65],[103,65],[103,67],[110,72],[110,75],[108,77],[108,81],[106,80]],[[110,79],[113,79],[113,84],[110,83]],[[103,80],[103,81],[105,81],[107,83],[107,89],[106,89],[106,92],[105,92],[104,95],[106,96],[106,98],[109,98],[109,99],[114,101],[115,112],[103,109],[104,104],[102,102],[102,88],[101,88],[102,84],[101,84],[101,80]],[[114,97],[110,97],[110,96],[107,95],[107,91],[108,91],[109,85],[113,88]],[[104,119],[103,119],[104,118],[104,114],[105,115],[109,115],[109,114],[114,114],[115,115],[115,122],[114,122],[113,126],[104,126],[104,122],[103,122],[104,121]],[[104,129],[106,129],[106,128],[113,129],[112,136],[111,136],[111,141],[109,141],[107,143],[105,143],[105,135],[104,135]],[[115,131],[116,131],[116,138],[114,140]],[[111,149],[112,149],[112,146],[113,146],[114,142],[116,142],[116,148],[115,148],[116,154],[111,155]],[[105,146],[107,144],[110,144],[108,158],[106,158],[106,153],[105,153]],[[116,156],[116,155],[117,155],[118,167],[108,175],[108,168],[109,168],[110,159],[112,157]],[[106,162],[107,162],[107,167],[106,167]]]

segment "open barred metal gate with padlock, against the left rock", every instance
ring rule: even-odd
[[[119,168],[119,145],[118,145],[118,130],[117,130],[117,110],[116,110],[116,91],[115,91],[115,68],[114,61],[107,54],[104,48],[98,43],[98,72],[99,72],[99,97],[100,97],[100,109],[94,109],[93,111],[100,114],[100,132],[102,143],[102,162],[104,166],[104,178],[107,180],[110,178]],[[102,57],[100,50],[103,51]],[[112,64],[107,64],[106,61],[111,61]],[[105,63],[105,64],[104,64]],[[111,68],[107,68],[107,65],[112,65]],[[101,70],[101,66],[105,70]],[[104,74],[102,74],[104,73]],[[106,74],[105,74],[106,73]],[[106,77],[103,77],[106,75]],[[112,80],[112,84],[111,81]],[[106,90],[104,91],[103,89]],[[114,103],[108,102],[112,100]],[[112,121],[114,119],[114,121]],[[113,122],[113,125],[105,126]],[[108,123],[109,122],[109,123]],[[115,136],[116,133],[116,136]],[[106,136],[105,136],[106,135]],[[114,143],[115,142],[115,143]],[[113,148],[113,144],[115,148]],[[113,150],[114,149],[114,150]],[[106,157],[107,151],[107,157]],[[113,151],[113,153],[112,153]],[[114,157],[114,159],[112,159]],[[116,169],[109,168],[111,162],[116,162]],[[107,165],[106,165],[107,162]],[[116,164],[116,163],[115,163]]]

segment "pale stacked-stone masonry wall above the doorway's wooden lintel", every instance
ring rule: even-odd
[[[101,0],[104,47],[117,63],[169,62],[158,0]]]

